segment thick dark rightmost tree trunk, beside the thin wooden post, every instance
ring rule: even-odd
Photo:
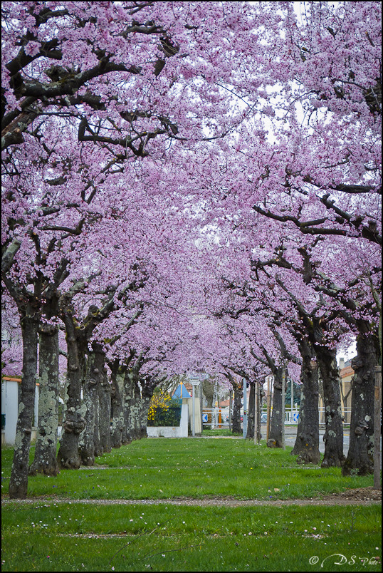
[[[357,336],[357,358],[352,383],[350,447],[342,475],[374,472],[374,368],[379,356],[379,341],[371,333]]]

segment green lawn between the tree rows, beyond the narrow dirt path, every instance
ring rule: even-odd
[[[96,458],[98,465],[63,470],[56,478],[30,477],[28,495],[74,499],[167,499],[236,497],[294,499],[372,485],[372,477],[342,478],[338,468],[301,466],[285,451],[248,440],[158,438],[137,440]],[[7,492],[11,448],[2,450],[3,492]],[[31,461],[34,447],[31,448]],[[101,467],[100,467],[101,466]],[[276,491],[278,490],[278,491]]]

